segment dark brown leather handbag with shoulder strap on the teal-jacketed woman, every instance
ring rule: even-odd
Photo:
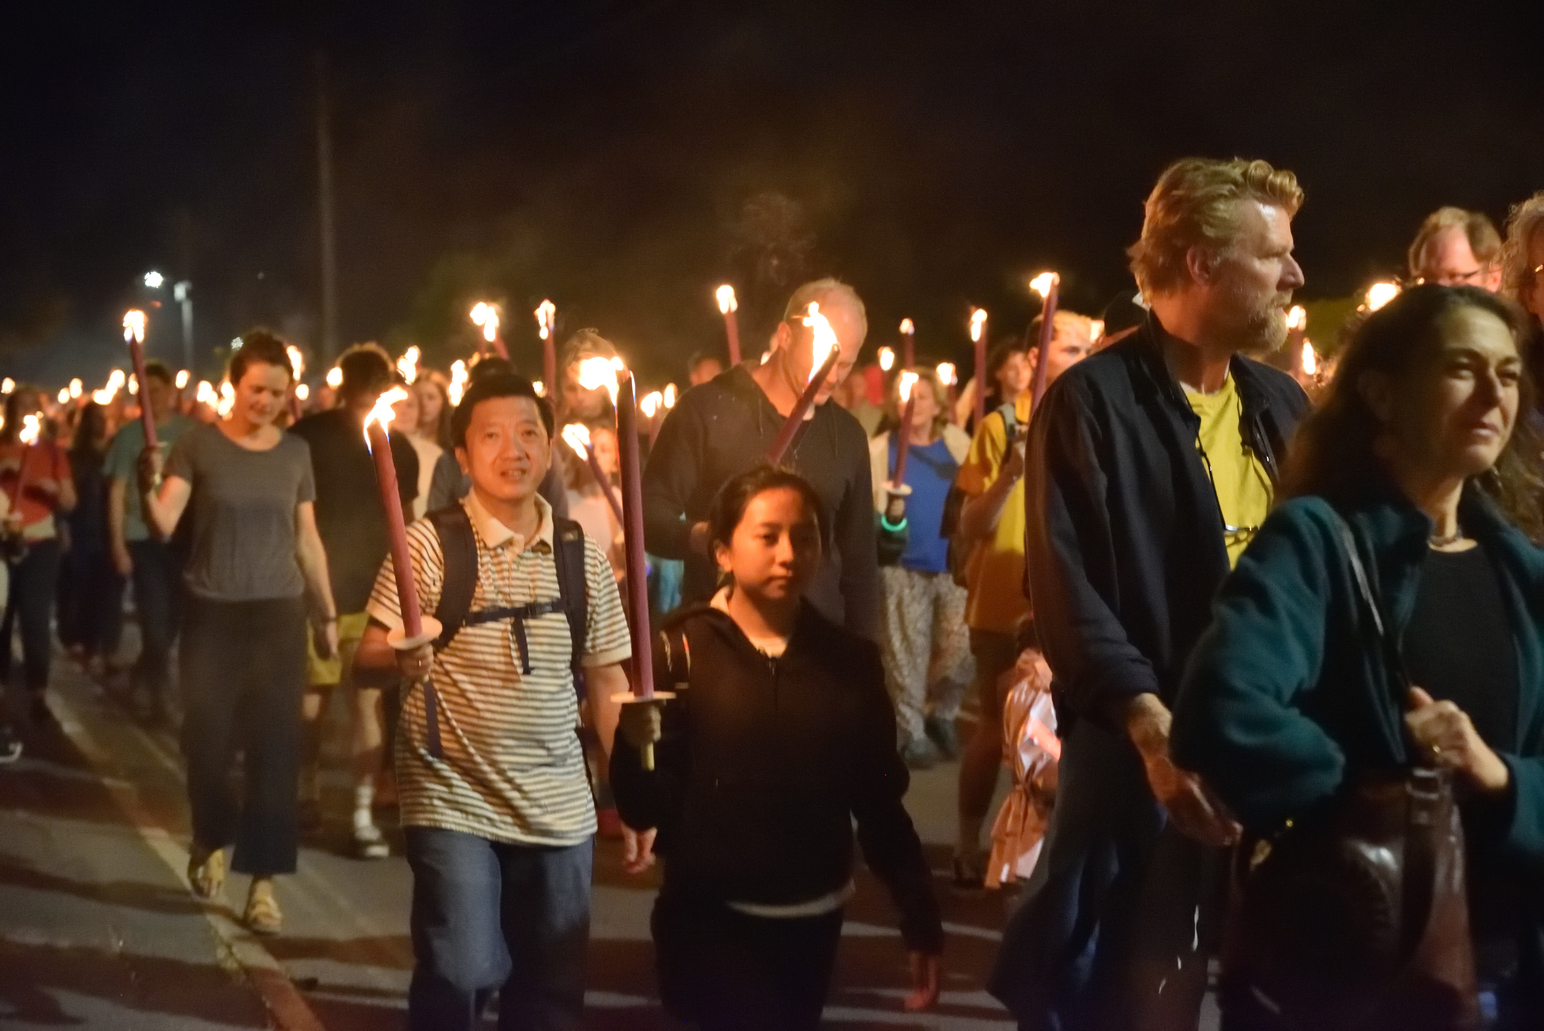
[[[1408,678],[1351,526],[1336,516],[1399,704]],[[1223,940],[1224,1026],[1478,1026],[1464,827],[1445,770],[1353,776],[1319,812],[1246,841]]]

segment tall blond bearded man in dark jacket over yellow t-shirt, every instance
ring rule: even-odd
[[[990,988],[1021,1028],[1195,1028],[1240,829],[1169,758],[1169,701],[1308,409],[1286,343],[1297,177],[1186,159],[1146,205],[1149,310],[1030,424],[1025,560],[1062,755]]]

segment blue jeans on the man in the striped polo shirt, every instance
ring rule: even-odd
[[[472,1031],[499,992],[500,1031],[584,1019],[594,843],[540,847],[406,827],[412,867],[408,1026]]]

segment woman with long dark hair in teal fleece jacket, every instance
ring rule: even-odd
[[[1260,980],[1260,955],[1306,955],[1289,948],[1300,940],[1286,920],[1265,952],[1224,963],[1224,1028],[1353,1026],[1331,1002],[1353,997],[1382,1020],[1357,1028],[1476,1026],[1476,1005],[1478,1026],[1544,1026],[1544,478],[1539,438],[1518,418],[1533,404],[1525,332],[1507,301],[1439,286],[1407,290],[1356,330],[1299,429],[1288,500],[1223,583],[1170,736],[1175,761],[1258,843],[1241,855],[1263,869],[1368,778],[1451,778],[1478,997],[1459,988],[1400,1011],[1419,992],[1334,965],[1362,931],[1357,906],[1319,906],[1302,940],[1325,941],[1322,954],[1271,968],[1317,971],[1299,1000],[1317,1017],[1294,1023],[1292,1003]],[[1419,883],[1414,863],[1407,849],[1407,884]],[[1326,926],[1337,920],[1343,935]]]

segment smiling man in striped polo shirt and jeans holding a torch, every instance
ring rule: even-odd
[[[559,600],[556,529],[537,494],[551,461],[551,409],[517,375],[474,381],[455,409],[455,457],[471,475],[462,502],[477,551],[471,611]],[[408,528],[425,613],[440,603],[445,554],[426,519]],[[613,695],[627,688],[627,619],[611,566],[584,542],[588,597],[581,662],[610,750]],[[466,622],[449,645],[394,653],[401,625],[388,557],[369,602],[357,665],[400,670],[397,736],[401,823],[412,866],[409,1025],[480,1026],[500,992],[500,1028],[577,1028],[590,935],[594,803],[576,735],[573,637],[562,607],[527,617]],[[514,622],[519,620],[520,627]]]

